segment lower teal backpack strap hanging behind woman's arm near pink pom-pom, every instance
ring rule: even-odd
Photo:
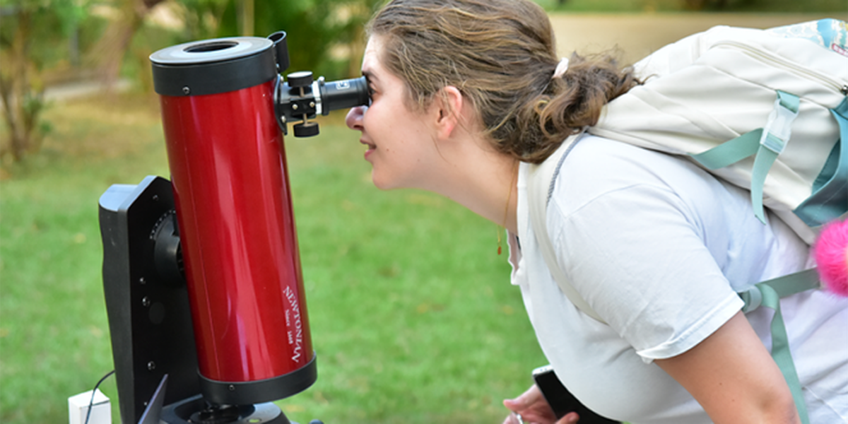
[[[774,310],[771,326],[772,358],[778,364],[780,372],[783,373],[789,385],[792,399],[795,400],[795,408],[801,416],[801,424],[810,424],[810,419],[806,412],[804,393],[801,391],[801,380],[798,378],[795,362],[789,352],[789,336],[786,333],[784,316],[780,312],[780,298],[819,287],[821,282],[819,282],[817,270],[812,268],[760,282],[747,291],[739,293],[739,297],[745,301],[745,307],[742,309],[745,313],[756,310],[759,306]]]

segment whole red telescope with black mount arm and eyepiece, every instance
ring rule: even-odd
[[[365,77],[284,78],[283,31],[150,60],[170,180],[99,200],[120,419],[289,424],[272,402],[317,369],[283,136],[315,136],[317,115],[368,104]]]

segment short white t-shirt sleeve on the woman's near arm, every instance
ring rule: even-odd
[[[637,181],[576,205],[552,198],[548,214],[566,277],[646,362],[692,349],[742,307],[670,187]]]

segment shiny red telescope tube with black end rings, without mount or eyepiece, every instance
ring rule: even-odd
[[[234,37],[153,53],[201,390],[217,404],[315,382],[274,43]]]

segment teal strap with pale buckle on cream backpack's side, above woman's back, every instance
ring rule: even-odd
[[[754,215],[766,222],[762,209],[762,187],[766,183],[768,170],[772,169],[778,155],[786,148],[792,133],[792,121],[798,116],[801,99],[795,94],[778,91],[774,109],[768,115],[766,126],[747,132],[728,142],[723,142],[706,152],[692,154],[692,158],[709,170],[733,165],[751,154],[756,154],[750,176],[750,201]]]

